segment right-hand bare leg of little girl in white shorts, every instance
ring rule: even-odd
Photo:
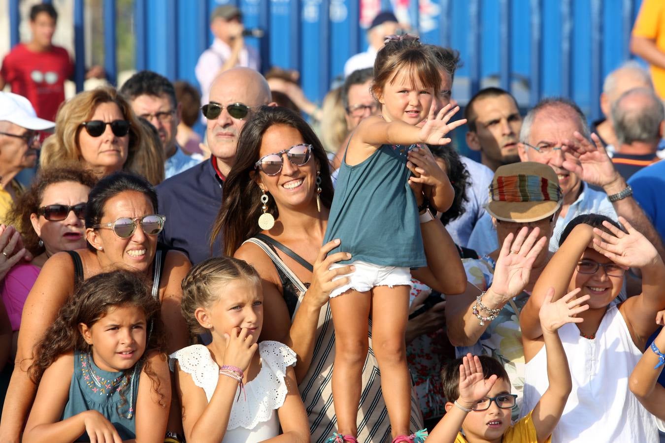
[[[372,349],[381,371],[381,390],[393,437],[411,433],[411,379],[404,341],[409,291],[406,285],[372,289]]]

